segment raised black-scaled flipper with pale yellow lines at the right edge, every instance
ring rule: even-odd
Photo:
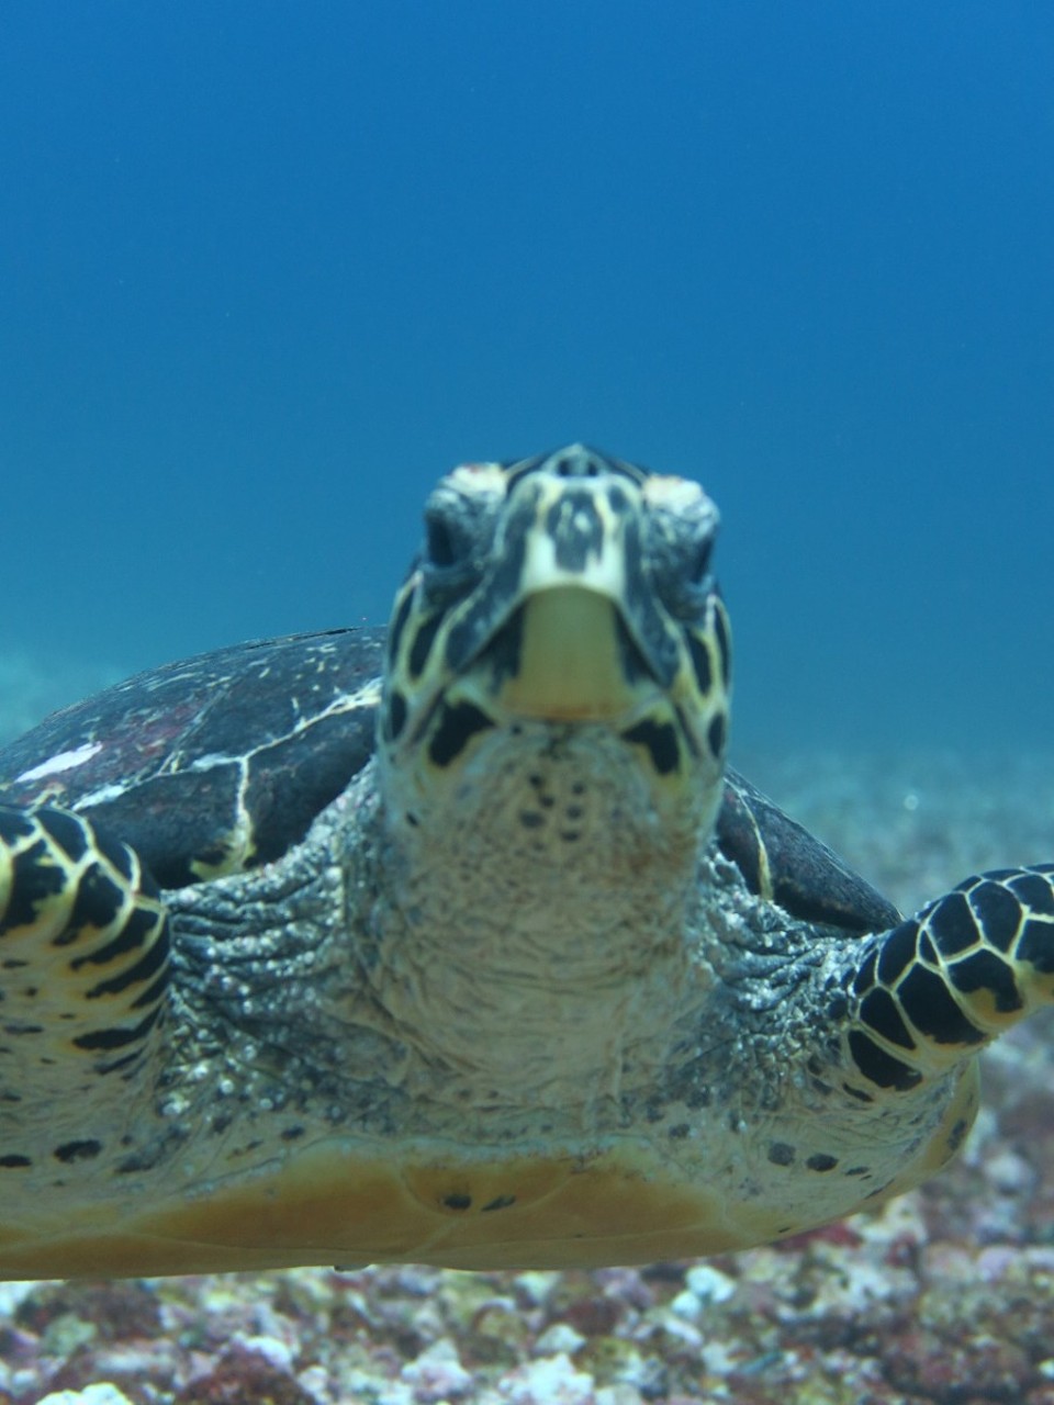
[[[1054,1003],[1054,864],[968,878],[874,939],[850,993],[849,1051],[870,1085],[946,1072]]]

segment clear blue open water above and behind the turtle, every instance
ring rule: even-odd
[[[384,618],[464,458],[724,513],[736,746],[1054,694],[1054,8],[0,15],[0,651]]]

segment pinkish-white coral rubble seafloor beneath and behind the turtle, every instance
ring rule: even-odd
[[[1054,756],[738,760],[904,908],[1054,858]],[[0,1286],[0,1405],[1054,1405],[1053,1031],[985,1055],[965,1152],[878,1214],[648,1269]]]

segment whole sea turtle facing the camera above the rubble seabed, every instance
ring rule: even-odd
[[[441,479],[386,636],[0,753],[0,1276],[646,1262],[916,1184],[1054,992],[1054,865],[901,916],[725,769],[717,511]]]

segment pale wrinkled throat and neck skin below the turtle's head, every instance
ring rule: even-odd
[[[592,1120],[653,1083],[705,993],[684,929],[711,801],[661,812],[609,731],[535,722],[381,794],[370,979],[415,1092]]]

